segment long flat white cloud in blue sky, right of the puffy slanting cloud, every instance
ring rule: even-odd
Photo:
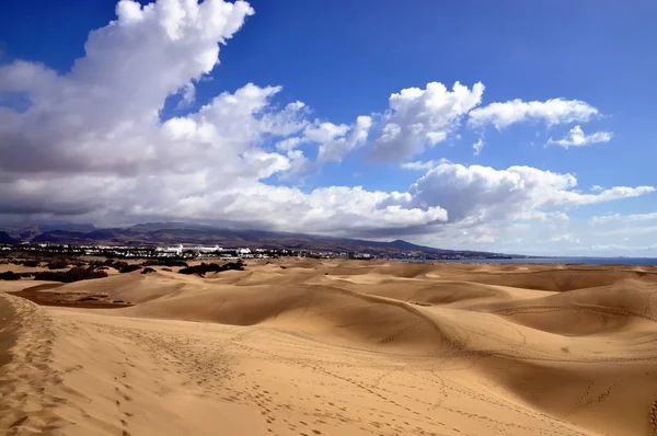
[[[548,126],[587,122],[599,111],[579,100],[552,99],[544,102],[523,102],[516,99],[505,103],[491,103],[470,112],[469,124],[484,127],[493,124],[498,130],[511,124],[530,119],[544,122]]]

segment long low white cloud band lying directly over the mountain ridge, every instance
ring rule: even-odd
[[[256,156],[252,161],[256,165],[266,159]],[[417,208],[400,200],[407,194],[370,192],[359,186],[331,186],[304,193],[296,187],[249,181],[219,186],[210,171],[123,180],[105,176],[18,180],[1,184],[0,196],[3,213],[16,216],[78,215],[94,222],[193,219],[327,234],[374,230],[403,234],[406,228],[447,219],[447,211],[439,206]]]

